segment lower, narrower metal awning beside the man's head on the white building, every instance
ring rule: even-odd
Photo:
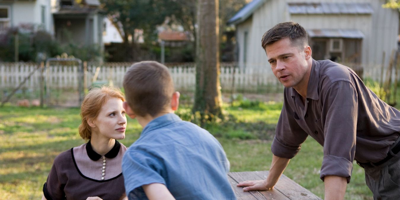
[[[307,34],[310,38],[364,38],[358,29],[310,29]]]

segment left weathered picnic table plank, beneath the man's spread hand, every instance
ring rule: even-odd
[[[254,172],[229,172],[228,176],[230,176],[237,183],[245,181],[245,180],[260,180],[260,176],[254,174]],[[241,191],[238,191],[240,195],[243,194],[252,194],[256,199],[282,199],[289,200],[284,194],[282,194],[278,190],[267,190],[267,191],[250,191],[243,192],[242,187],[236,186],[236,184],[232,185],[232,187],[239,188]]]

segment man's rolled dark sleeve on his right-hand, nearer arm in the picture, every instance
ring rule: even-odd
[[[325,140],[320,178],[324,180],[325,176],[333,175],[350,182],[356,151],[357,92],[347,79],[333,82],[322,91],[326,91],[320,99]]]

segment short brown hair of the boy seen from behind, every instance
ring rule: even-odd
[[[168,68],[155,61],[138,62],[124,76],[126,102],[138,116],[156,116],[171,104],[174,83]]]

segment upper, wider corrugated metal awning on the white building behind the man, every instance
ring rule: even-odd
[[[290,14],[372,14],[369,3],[289,3]]]

